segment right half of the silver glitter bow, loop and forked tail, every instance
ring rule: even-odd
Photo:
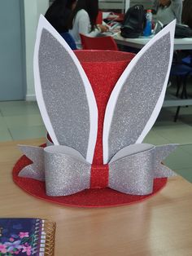
[[[109,163],[109,188],[132,195],[148,195],[153,191],[154,178],[174,176],[175,173],[161,164],[162,159],[177,148],[176,144],[155,147],[135,144],[133,154]],[[129,147],[127,147],[129,150]],[[139,152],[141,148],[142,152]]]

